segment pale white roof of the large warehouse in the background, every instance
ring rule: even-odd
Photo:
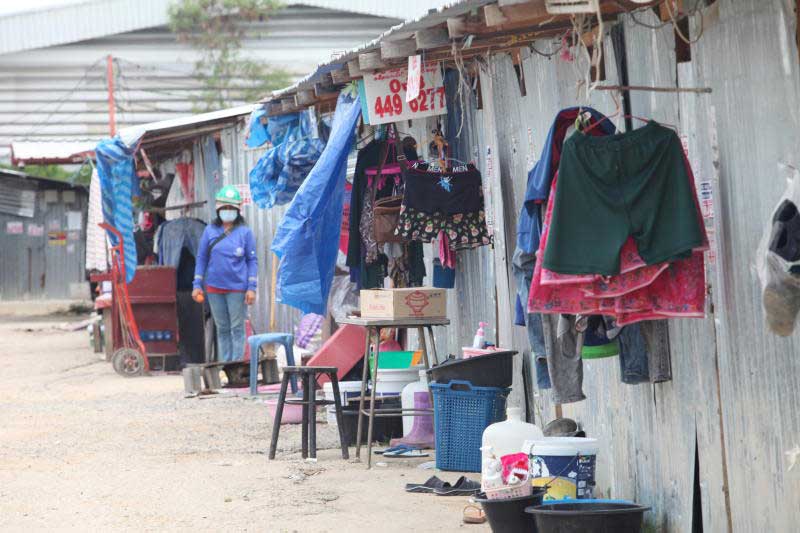
[[[0,17],[0,54],[164,26],[172,0],[85,0]],[[306,5],[379,17],[419,16],[447,0],[303,0]]]

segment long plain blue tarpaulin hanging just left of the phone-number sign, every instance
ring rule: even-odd
[[[342,91],[328,144],[272,241],[272,251],[281,259],[279,301],[304,313],[326,312],[339,250],[347,156],[360,115],[358,96]]]

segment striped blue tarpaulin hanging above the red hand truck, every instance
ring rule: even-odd
[[[136,142],[126,145],[119,136],[97,143],[97,174],[103,198],[103,219],[122,234],[125,252],[125,279],[136,275],[136,243],[133,240],[133,205],[131,195],[139,191],[139,179],[133,164]],[[117,237],[109,233],[113,245]]]

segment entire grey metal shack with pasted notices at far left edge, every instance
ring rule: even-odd
[[[88,191],[0,169],[0,300],[88,298]]]

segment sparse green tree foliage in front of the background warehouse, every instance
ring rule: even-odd
[[[242,54],[253,23],[266,21],[280,7],[278,0],[180,0],[170,6],[171,30],[200,53],[195,76],[203,89],[194,98],[197,111],[255,101],[289,85],[286,70]]]

